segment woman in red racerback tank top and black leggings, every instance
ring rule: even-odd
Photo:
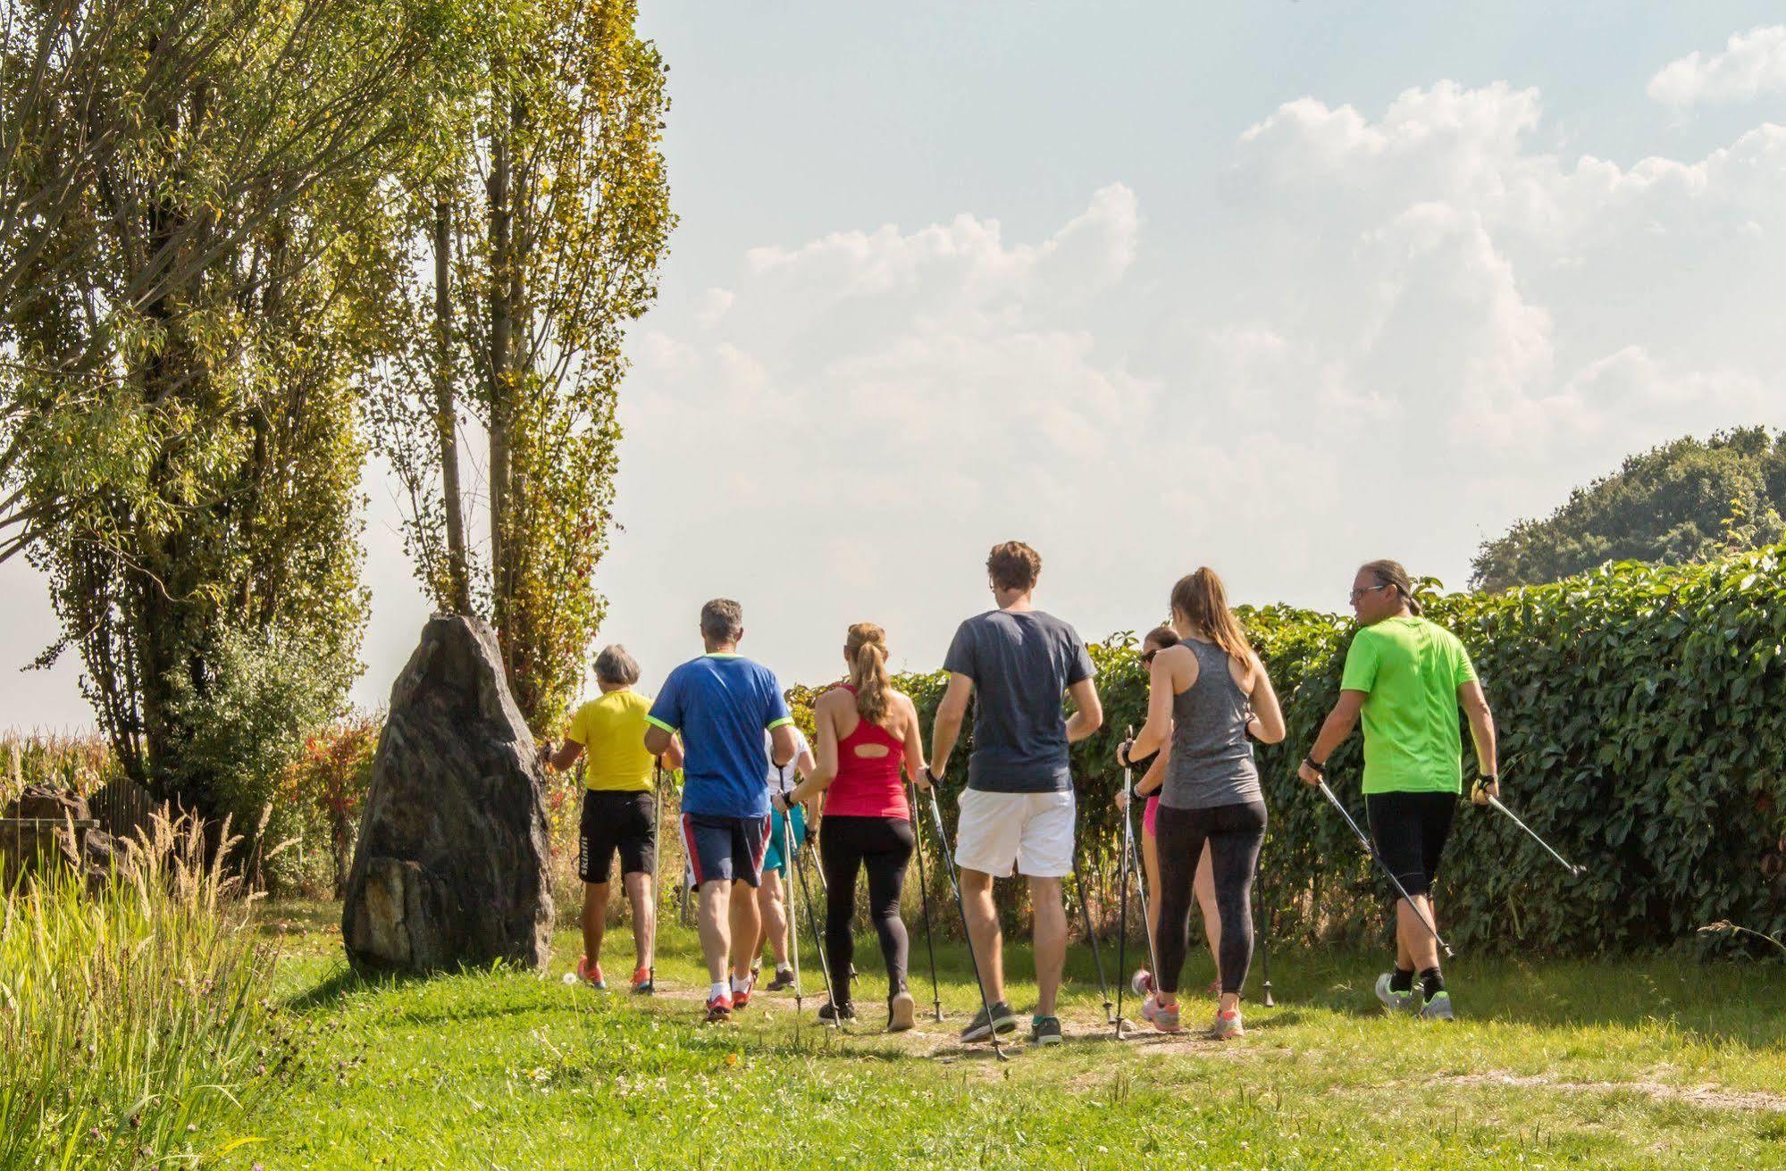
[[[855,875],[866,869],[868,914],[888,964],[888,1032],[904,1032],[913,1026],[914,1005],[906,989],[907,943],[898,903],[906,864],[911,862],[913,832],[900,768],[920,789],[929,789],[923,739],[911,696],[893,689],[888,635],[880,627],[850,627],[843,660],[850,664],[850,680],[832,687],[813,705],[818,768],[786,796],[777,796],[775,807],[825,794],[818,823],[818,857],[829,885],[825,959],[834,976],[850,971],[855,953]],[[855,1016],[848,978],[841,982],[843,987],[832,989],[834,1001],[818,1010],[822,1019],[847,1021]]]

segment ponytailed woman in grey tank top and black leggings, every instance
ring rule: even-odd
[[[1207,844],[1222,919],[1222,1000],[1211,1034],[1239,1037],[1239,989],[1252,964],[1252,873],[1264,841],[1264,793],[1252,741],[1284,739],[1284,712],[1214,569],[1198,569],[1172,587],[1172,628],[1182,641],[1154,655],[1147,723],[1116,753],[1129,764],[1170,748],[1156,826],[1159,971],[1148,1017],[1161,1032],[1179,1028],[1191,882]]]

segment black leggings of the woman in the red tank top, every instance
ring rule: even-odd
[[[906,989],[906,921],[898,918],[900,887],[911,862],[911,821],[904,818],[825,818],[818,857],[825,864],[825,962],[832,996],[850,1001],[850,960],[855,957],[855,871],[868,868],[868,914],[888,964],[888,994]]]

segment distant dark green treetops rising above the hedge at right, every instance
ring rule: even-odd
[[[1763,427],[1688,436],[1632,455],[1475,557],[1481,589],[1538,586],[1607,561],[1700,562],[1786,534],[1786,434]]]

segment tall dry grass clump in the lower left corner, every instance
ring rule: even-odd
[[[291,1042],[223,853],[157,818],[96,889],[61,873],[5,896],[0,1171],[200,1166],[254,1141]]]

